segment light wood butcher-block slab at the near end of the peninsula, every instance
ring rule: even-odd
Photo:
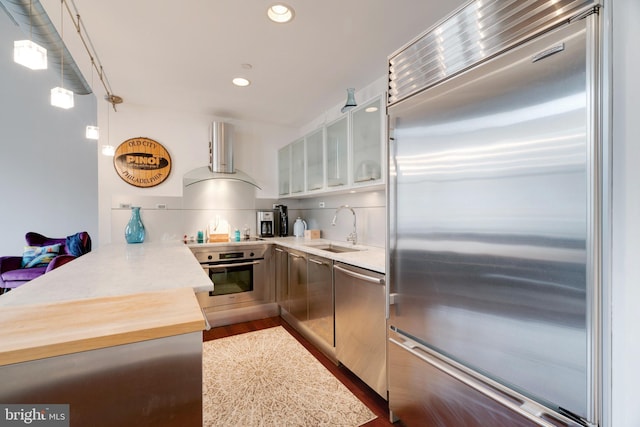
[[[0,366],[201,331],[191,288],[0,309]]]

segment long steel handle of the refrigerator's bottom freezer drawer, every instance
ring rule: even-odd
[[[389,342],[401,347],[423,362],[430,364],[436,369],[446,373],[447,375],[455,378],[468,387],[473,388],[477,392],[482,393],[488,398],[500,403],[501,405],[511,409],[512,411],[522,415],[523,417],[535,422],[538,425],[544,427],[557,427],[556,424],[546,421],[545,417],[556,419],[569,426],[579,425],[575,420],[570,420],[558,413],[550,411],[544,406],[524,396],[513,396],[513,391],[511,391],[510,393],[507,392],[509,389],[505,388],[499,383],[492,382],[491,380],[487,379],[492,384],[491,386],[485,384],[484,381],[480,381],[473,375],[470,375],[470,371],[465,369],[464,366],[458,365],[454,361],[451,361],[451,363],[445,362],[444,360],[442,360],[441,356],[435,356],[435,352],[433,350],[430,350],[409,338],[403,336],[398,339],[390,336]],[[582,425],[587,424],[585,423]]]

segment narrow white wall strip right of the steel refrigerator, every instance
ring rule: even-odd
[[[640,2],[613,6],[613,427],[640,426]]]

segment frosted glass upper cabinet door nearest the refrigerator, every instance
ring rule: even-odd
[[[382,98],[351,111],[353,184],[372,184],[382,180]]]

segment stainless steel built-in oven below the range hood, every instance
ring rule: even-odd
[[[202,246],[191,250],[211,279],[208,292],[196,293],[202,308],[249,306],[273,299],[269,245]]]

